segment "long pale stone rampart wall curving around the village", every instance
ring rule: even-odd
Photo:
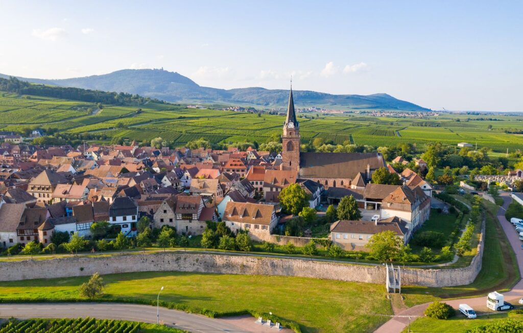
[[[483,222],[482,230],[485,224]],[[478,255],[466,268],[402,269],[403,285],[444,287],[469,284],[481,270],[483,232]],[[0,281],[65,278],[100,274],[181,271],[222,274],[282,275],[327,280],[384,283],[383,266],[351,265],[309,259],[165,252],[112,257],[67,257],[0,262]]]

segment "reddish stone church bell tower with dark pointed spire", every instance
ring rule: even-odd
[[[296,119],[294,111],[294,99],[292,98],[292,86],[289,94],[289,107],[287,118],[283,123],[282,144],[282,166],[287,170],[299,170],[300,168],[300,124]]]

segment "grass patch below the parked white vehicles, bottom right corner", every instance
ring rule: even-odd
[[[458,314],[456,317],[442,320],[433,318],[419,318],[411,323],[411,332],[464,332],[465,330],[472,329],[478,326],[492,324],[495,321],[501,321],[506,319],[523,319],[523,315],[518,315],[510,312],[503,312],[499,314],[487,316],[479,316],[476,319],[468,319]],[[407,332],[408,328],[404,329],[403,332]]]

